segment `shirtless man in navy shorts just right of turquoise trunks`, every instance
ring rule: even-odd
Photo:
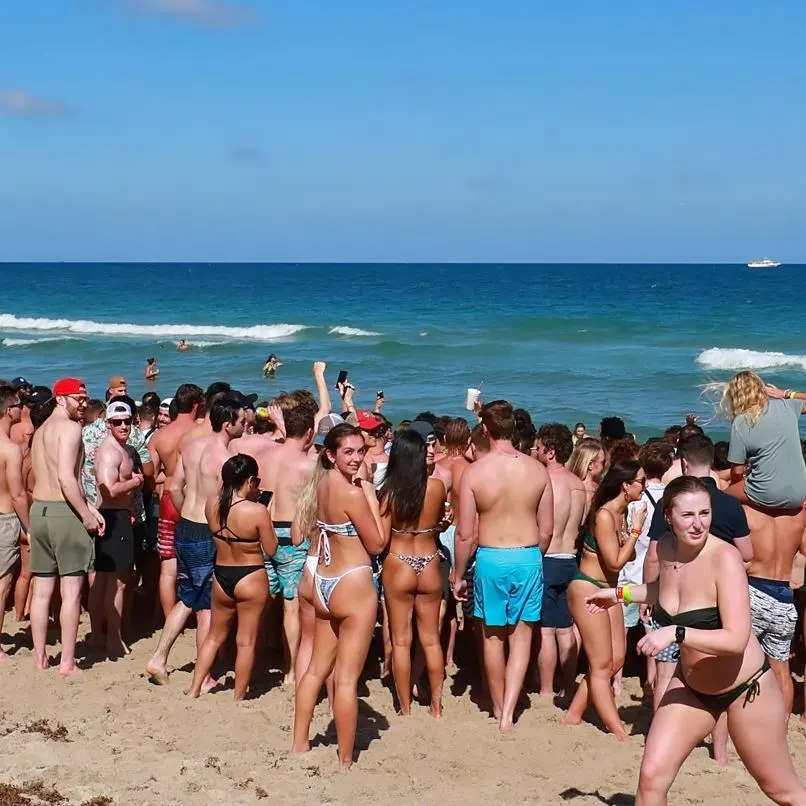
[[[541,426],[536,445],[536,458],[548,470],[554,493],[554,534],[543,558],[545,586],[537,659],[540,696],[554,696],[558,650],[563,691],[570,696],[576,678],[578,649],[566,592],[577,572],[577,539],[585,516],[585,486],[565,469],[574,450],[573,438],[566,426],[559,423]]]

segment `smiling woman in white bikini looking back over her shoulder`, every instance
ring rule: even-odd
[[[313,576],[316,610],[313,654],[297,686],[292,752],[310,749],[309,732],[316,699],[334,676],[333,713],[339,763],[353,763],[358,721],[358,679],[367,659],[378,613],[371,554],[385,541],[370,503],[371,486],[355,482],[364,460],[364,438],[354,426],[337,425],[325,438],[319,457],[327,471],[317,491],[319,560]]]

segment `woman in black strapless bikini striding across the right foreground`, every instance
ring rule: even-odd
[[[591,613],[621,601],[655,605],[662,627],[641,639],[639,651],[655,657],[673,643],[680,647],[646,739],[635,806],[666,803],[683,762],[725,711],[736,751],[764,794],[775,803],[806,804],[787,746],[781,689],[750,629],[744,565],[736,549],[708,531],[708,488],[690,476],[675,479],[663,513],[673,536],[658,544],[659,579],[587,597]]]

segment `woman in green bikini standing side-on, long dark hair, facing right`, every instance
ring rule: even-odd
[[[645,484],[646,473],[638,462],[616,462],[607,471],[582,526],[579,570],[568,585],[568,605],[588,656],[588,673],[562,721],[579,725],[593,703],[605,727],[619,740],[627,738],[627,731],[616,709],[612,680],[624,665],[624,616],[620,607],[592,615],[585,602],[597,588],[615,585],[619,571],[635,556],[635,544],[646,520],[646,504],[636,505],[629,531],[627,506],[640,501]]]

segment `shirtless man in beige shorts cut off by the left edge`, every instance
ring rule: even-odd
[[[20,561],[20,524],[28,532],[28,496],[22,483],[22,448],[12,442],[11,426],[20,421],[20,397],[11,386],[0,387],[0,634],[6,600]],[[8,655],[0,647],[0,661]]]

